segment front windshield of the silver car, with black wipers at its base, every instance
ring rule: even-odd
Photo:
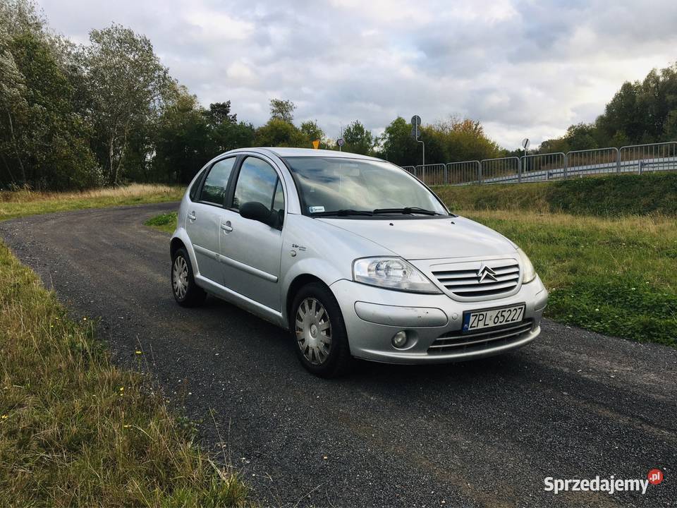
[[[303,214],[378,214],[449,217],[417,179],[389,162],[343,157],[286,157],[297,183]],[[430,213],[433,212],[433,213]]]

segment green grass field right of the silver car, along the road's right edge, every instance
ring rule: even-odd
[[[677,346],[677,219],[468,210],[525,250],[550,291],[546,315]]]

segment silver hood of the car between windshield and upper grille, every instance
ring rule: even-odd
[[[465,217],[318,220],[367,238],[407,260],[504,255],[516,249],[505,236]]]

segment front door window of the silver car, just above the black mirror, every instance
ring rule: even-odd
[[[276,193],[277,181],[277,173],[270,164],[256,157],[247,157],[240,168],[233,208],[240,210],[240,205],[250,201],[263,203],[271,210],[274,202],[284,208],[282,189]]]

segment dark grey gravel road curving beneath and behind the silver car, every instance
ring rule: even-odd
[[[205,444],[262,504],[677,505],[677,350],[546,320],[537,341],[505,356],[359,362],[350,377],[320,380],[281,329],[216,298],[174,303],[169,238],[142,223],[175,208],[25,217],[0,223],[0,237],[74,315],[100,317],[117,363],[135,365],[142,347],[171,404],[202,422]],[[665,480],[643,496],[544,491],[547,476],[652,468]]]

